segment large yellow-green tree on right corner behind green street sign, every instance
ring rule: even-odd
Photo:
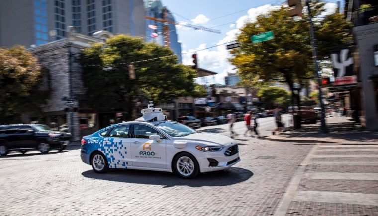
[[[349,42],[350,25],[340,13],[321,16],[325,3],[314,0],[311,3],[315,35],[318,43],[318,59],[329,60],[330,48]],[[256,22],[246,23],[238,35],[240,48],[231,53],[231,63],[238,69],[244,84],[250,86],[286,83],[297,103],[299,91],[314,79],[314,62],[310,43],[308,16],[293,20],[287,8],[282,5],[265,15],[257,17]],[[251,36],[262,32],[274,32],[274,39],[255,43]],[[295,90],[298,90],[297,93]]]

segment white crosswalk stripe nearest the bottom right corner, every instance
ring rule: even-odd
[[[344,193],[329,191],[297,191],[294,201],[378,205],[378,194]]]

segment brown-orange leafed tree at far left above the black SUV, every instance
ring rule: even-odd
[[[0,48],[0,124],[21,123],[24,112],[39,112],[47,92],[40,91],[37,59],[23,46]]]

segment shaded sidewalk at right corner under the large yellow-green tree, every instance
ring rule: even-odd
[[[267,140],[298,143],[360,143],[377,142],[378,131],[364,130],[350,117],[327,117],[329,133],[320,134],[320,122],[302,124],[301,129],[287,128],[286,132],[265,137]]]

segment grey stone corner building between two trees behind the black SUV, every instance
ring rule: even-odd
[[[104,32],[111,35],[111,33]],[[102,34],[103,35],[103,34]],[[75,32],[67,32],[67,38],[28,49],[38,58],[43,71],[41,90],[50,92],[47,104],[42,105],[43,113],[26,113],[22,116],[24,123],[47,124],[54,130],[68,131],[73,140],[80,140],[83,130],[89,129],[88,122],[81,124],[81,116],[93,122],[93,115],[80,113],[78,98],[85,94],[81,67],[77,61],[81,49],[90,43],[102,42],[101,39]],[[88,121],[88,120],[87,120]]]

